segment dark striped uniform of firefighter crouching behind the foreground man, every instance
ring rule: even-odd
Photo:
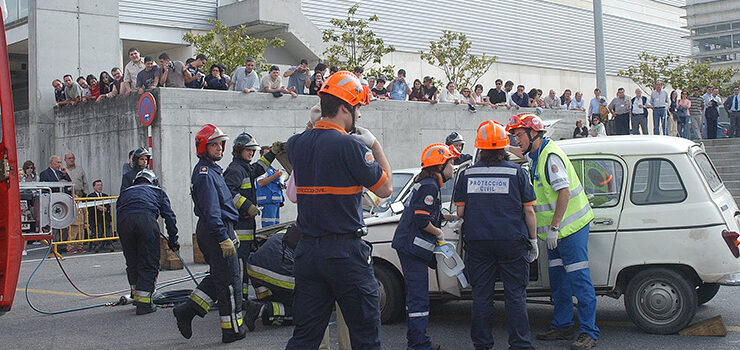
[[[247,272],[257,299],[264,305],[262,323],[287,326],[293,323],[293,256],[284,243],[287,230],[278,231],[249,256]]]

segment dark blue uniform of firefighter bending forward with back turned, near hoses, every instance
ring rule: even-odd
[[[167,233],[177,237],[177,220],[167,194],[159,187],[136,184],[124,189],[116,201],[118,237],[126,258],[126,276],[134,304],[151,304],[159,274],[159,224],[164,218]]]

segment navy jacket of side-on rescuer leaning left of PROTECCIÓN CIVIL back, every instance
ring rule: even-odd
[[[414,185],[393,235],[393,249],[427,262],[434,258],[437,236],[425,231],[424,227],[429,223],[441,227],[440,186],[440,181],[433,178],[422,179]]]

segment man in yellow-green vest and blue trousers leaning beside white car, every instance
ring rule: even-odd
[[[572,339],[573,296],[578,299],[580,332],[571,349],[596,346],[596,293],[588,268],[588,235],[594,214],[568,156],[545,135],[542,120],[531,113],[511,116],[506,131],[527,155],[537,204],[537,235],[547,241],[548,275],[555,303],[550,330],[540,340]]]

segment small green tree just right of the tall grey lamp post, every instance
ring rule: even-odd
[[[671,77],[676,66],[678,66],[678,56],[658,57],[643,51],[637,57],[640,62],[636,66],[629,66],[626,70],[620,70],[617,75],[630,78],[642,91],[648,94],[653,91],[655,83],[658,81],[669,83],[671,86],[676,83],[676,78]]]

